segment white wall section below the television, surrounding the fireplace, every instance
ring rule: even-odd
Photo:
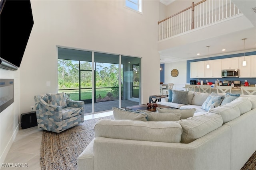
[[[14,79],[14,103],[0,113],[0,162],[4,159],[18,133],[20,121],[20,71],[0,68],[0,77]]]

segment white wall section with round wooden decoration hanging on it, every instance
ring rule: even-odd
[[[179,74],[177,77],[171,76],[172,69],[177,69]],[[175,63],[164,64],[164,83],[174,83],[174,90],[185,90],[182,88],[186,84],[187,77],[187,63],[186,61],[180,61]]]

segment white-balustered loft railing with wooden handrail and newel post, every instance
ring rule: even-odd
[[[240,13],[231,0],[193,2],[192,6],[158,22],[159,41]]]

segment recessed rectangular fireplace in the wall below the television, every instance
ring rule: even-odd
[[[0,112],[14,102],[14,80],[0,79]]]

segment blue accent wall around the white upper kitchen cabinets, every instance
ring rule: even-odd
[[[256,55],[256,51],[245,53],[245,56],[248,55]],[[226,58],[232,58],[232,57],[241,57],[244,56],[244,53],[238,53],[238,54],[232,54],[232,55],[222,55],[217,57],[210,57],[209,60],[216,60],[216,59],[226,59]],[[207,61],[208,58],[204,59],[196,59],[196,60],[188,60],[187,61],[187,83],[190,83],[190,80],[197,80],[196,78],[190,78],[190,63],[196,62],[196,61]],[[208,82],[213,82],[217,78],[200,78],[200,80],[203,80],[204,83],[206,83],[206,80]],[[244,80],[247,80],[250,84],[256,84],[256,78],[239,78],[239,77],[226,77],[226,78],[218,78],[220,81],[223,82],[223,80],[240,80],[240,82],[244,82]]]

